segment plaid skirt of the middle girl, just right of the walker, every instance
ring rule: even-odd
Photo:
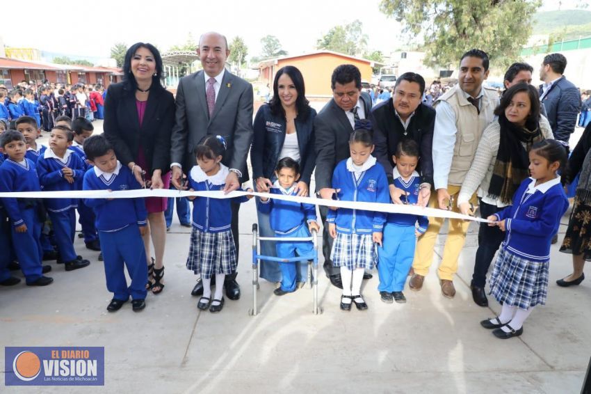
[[[333,267],[347,267],[351,271],[355,268],[372,269],[378,262],[372,235],[337,233],[330,260]]]

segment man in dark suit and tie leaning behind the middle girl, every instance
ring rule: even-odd
[[[369,94],[361,91],[361,72],[351,64],[339,65],[332,72],[332,100],[314,119],[316,133],[316,192],[322,198],[332,199],[332,172],[339,161],[348,159],[349,136],[353,132],[356,119],[365,119],[371,111]],[[323,223],[326,221],[327,207],[319,207]],[[324,271],[330,283],[343,288],[341,273],[332,267],[330,251],[332,237],[328,226],[323,226],[322,251],[324,255]],[[364,278],[371,278],[365,274]]]

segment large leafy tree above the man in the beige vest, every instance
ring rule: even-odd
[[[519,59],[540,0],[382,0],[380,11],[403,23],[403,33],[423,33],[428,66],[457,64],[464,52],[483,49],[506,67]]]

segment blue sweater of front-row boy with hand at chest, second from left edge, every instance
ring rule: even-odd
[[[37,173],[43,191],[72,191],[76,190],[76,180],[84,176],[84,165],[81,159],[67,150],[65,164],[54,157],[51,148],[47,148],[37,161]],[[62,169],[68,167],[74,171],[74,183],[69,183],[63,176]],[[45,207],[50,212],[62,212],[78,206],[77,198],[45,198]]]

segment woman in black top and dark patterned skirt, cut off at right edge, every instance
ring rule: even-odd
[[[578,140],[569,157],[566,182],[570,183],[581,172],[576,187],[574,205],[569,219],[569,226],[560,251],[572,253],[573,272],[558,279],[556,284],[562,287],[580,285],[585,279],[583,267],[591,260],[591,123]]]

